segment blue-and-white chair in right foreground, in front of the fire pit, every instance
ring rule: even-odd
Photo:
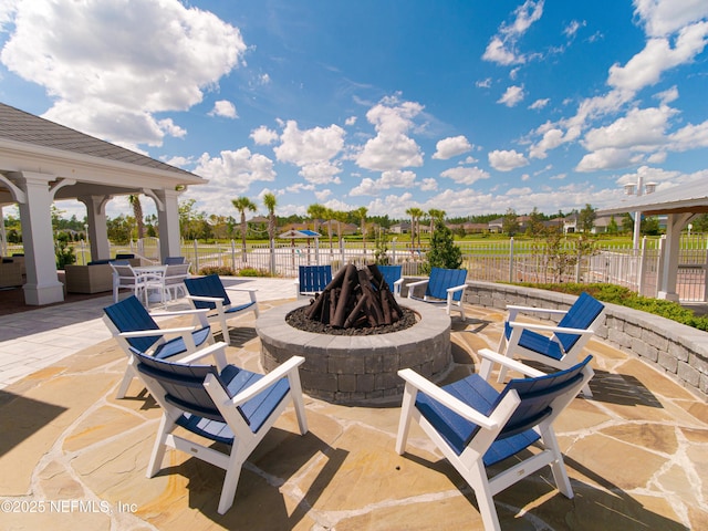
[[[410,420],[473,489],[486,530],[500,530],[493,496],[550,466],[558,489],[573,498],[553,423],[593,377],[591,356],[571,368],[544,374],[487,348],[480,374],[438,387],[413,369],[398,375],[406,381],[396,451],[406,448]],[[497,392],[487,383],[491,362],[530,376],[512,379]],[[529,455],[531,445],[541,451]],[[488,468],[516,456],[509,468],[489,477]]]

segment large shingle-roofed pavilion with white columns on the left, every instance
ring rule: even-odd
[[[28,304],[64,300],[54,258],[54,200],[77,199],[86,206],[96,260],[110,258],[106,204],[115,196],[144,194],[157,207],[159,250],[167,257],[180,253],[179,195],[188,185],[205,183],[184,169],[0,103],[0,206],[19,206]]]

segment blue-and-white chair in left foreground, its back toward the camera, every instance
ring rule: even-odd
[[[217,511],[223,514],[233,504],[241,468],[258,444],[291,403],[300,434],[308,431],[298,367],[303,357],[293,356],[268,375],[251,373],[235,365],[215,367],[197,364],[217,351],[217,343],[192,355],[185,363],[170,363],[134,353],[136,368],[150,395],[163,408],[147,477],[162,467],[166,448],[174,448],[226,470]],[[227,445],[201,445],[198,440],[174,434],[178,427],[210,441]]]

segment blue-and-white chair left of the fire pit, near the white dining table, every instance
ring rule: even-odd
[[[221,326],[221,335],[223,342],[231,344],[229,339],[229,329],[227,321],[237,317],[246,312],[253,312],[258,317],[258,301],[256,300],[256,290],[232,289],[232,291],[241,291],[248,293],[249,302],[243,304],[235,304],[231,302],[229,294],[223,288],[223,283],[218,274],[208,274],[206,277],[192,277],[185,279],[187,288],[187,299],[196,309],[206,309],[207,319],[210,323],[218,322]]]

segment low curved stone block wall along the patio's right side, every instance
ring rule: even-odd
[[[465,302],[499,310],[507,304],[565,310],[575,301],[573,295],[517,285],[467,284]],[[605,322],[596,332],[600,339],[632,352],[708,400],[708,332],[638,310],[606,306]],[[540,316],[551,320],[550,314]]]

